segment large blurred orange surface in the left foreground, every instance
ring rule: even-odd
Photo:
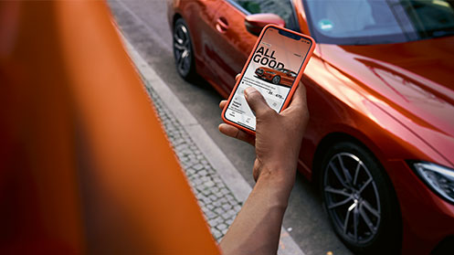
[[[0,253],[218,254],[102,2],[0,3]]]

